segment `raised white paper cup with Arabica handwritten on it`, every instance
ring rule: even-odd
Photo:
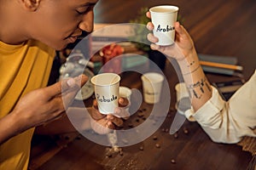
[[[160,5],[149,8],[154,25],[154,36],[159,38],[156,44],[161,46],[172,45],[175,38],[174,23],[177,21],[178,7]]]

